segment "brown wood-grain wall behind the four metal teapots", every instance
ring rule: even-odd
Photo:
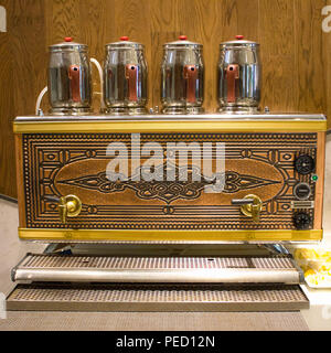
[[[0,193],[17,194],[12,120],[34,114],[46,85],[47,46],[64,36],[88,44],[100,62],[104,45],[120,35],[143,43],[151,107],[160,104],[162,44],[186,34],[204,45],[204,107],[213,111],[218,44],[243,34],[261,45],[261,106],[323,113],[331,126],[331,33],[321,26],[327,4],[331,0],[0,0],[8,21],[0,33]],[[96,71],[94,77],[98,109]]]

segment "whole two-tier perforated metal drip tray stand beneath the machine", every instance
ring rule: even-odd
[[[19,285],[7,307],[53,311],[291,311],[309,307],[299,286],[302,272],[285,249],[212,247],[213,252],[209,245],[53,244],[45,254],[28,254],[13,268],[12,279]]]

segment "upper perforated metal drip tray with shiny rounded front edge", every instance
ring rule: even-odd
[[[13,281],[287,284],[302,274],[286,256],[114,257],[28,254]]]

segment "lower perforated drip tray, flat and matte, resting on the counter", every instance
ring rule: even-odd
[[[8,310],[38,311],[296,311],[308,309],[300,286],[18,285]]]

